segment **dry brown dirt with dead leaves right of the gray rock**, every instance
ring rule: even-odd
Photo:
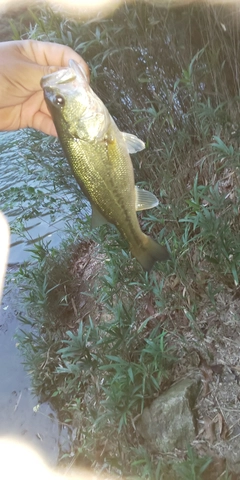
[[[229,470],[240,477],[240,299],[229,291],[215,300],[217,312],[203,310],[199,319],[206,326],[202,343],[212,358],[200,362],[203,387],[195,444],[200,452],[226,458]]]

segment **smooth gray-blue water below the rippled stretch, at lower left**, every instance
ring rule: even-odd
[[[38,408],[38,399],[31,393],[31,380],[14,339],[21,295],[15,287],[6,290],[0,306],[0,436],[28,442],[54,465],[61,445],[67,445],[68,432],[60,427],[51,405]]]

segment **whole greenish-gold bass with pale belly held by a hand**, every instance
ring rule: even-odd
[[[158,205],[151,192],[135,186],[130,154],[142,140],[119,130],[74,60],[42,77],[41,87],[73,175],[92,207],[92,228],[115,225],[145,271],[169,258],[165,246],[142,232],[137,211]]]

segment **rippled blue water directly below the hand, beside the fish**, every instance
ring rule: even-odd
[[[41,238],[58,246],[69,216],[71,191],[49,177],[41,138],[25,130],[0,133],[0,206],[12,226],[10,265],[29,260],[28,247]]]

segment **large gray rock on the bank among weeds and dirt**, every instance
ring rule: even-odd
[[[183,379],[145,408],[137,428],[147,448],[155,453],[186,449],[196,436],[200,378]]]

